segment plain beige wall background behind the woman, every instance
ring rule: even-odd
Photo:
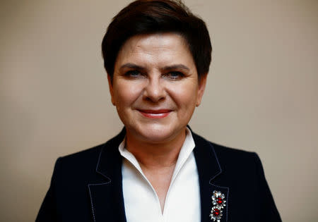
[[[34,221],[57,157],[122,128],[100,43],[127,2],[1,1],[0,221]],[[185,2],[213,41],[193,130],[259,154],[283,221],[318,221],[318,1]]]

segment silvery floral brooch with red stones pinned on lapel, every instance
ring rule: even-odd
[[[212,209],[211,209],[211,220],[213,221],[217,221],[220,222],[220,219],[223,216],[223,209],[224,206],[226,206],[225,204],[226,200],[225,200],[225,195],[223,195],[223,193],[221,193],[220,191],[213,191],[213,195],[212,195]]]

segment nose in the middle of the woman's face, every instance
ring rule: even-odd
[[[148,78],[146,84],[143,99],[153,102],[165,99],[166,91],[160,76],[152,76],[151,78]]]

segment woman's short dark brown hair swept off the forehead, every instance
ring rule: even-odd
[[[175,32],[186,40],[196,65],[198,78],[208,73],[211,41],[204,21],[173,0],[137,0],[122,9],[107,28],[102,39],[104,66],[110,79],[122,45],[134,35]]]

